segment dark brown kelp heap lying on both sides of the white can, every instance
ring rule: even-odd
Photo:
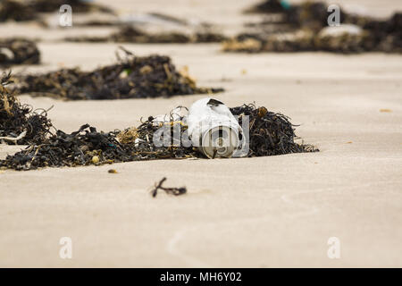
[[[318,151],[312,146],[297,144],[294,126],[282,114],[268,112],[265,107],[242,105],[231,108],[234,115],[249,115],[248,156],[273,156],[290,153]],[[172,116],[171,116],[172,118]],[[182,159],[201,157],[193,147],[182,145],[156,147],[153,137],[163,124],[173,130],[178,124],[181,135],[187,132],[183,118],[171,122],[155,122],[150,116],[138,128],[112,132],[97,131],[88,124],[67,134],[58,130],[40,144],[30,144],[25,150],[0,161],[0,166],[15,170],[32,170],[39,167],[79,166],[89,164],[112,164],[116,162],[143,161],[155,159]],[[184,125],[184,126],[183,126]],[[172,138],[172,136],[171,136]],[[163,140],[163,139],[161,139]]]

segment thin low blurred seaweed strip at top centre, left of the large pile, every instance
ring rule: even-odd
[[[167,43],[220,43],[227,39],[219,33],[208,29],[199,30],[193,34],[183,32],[159,32],[148,33],[133,26],[123,26],[118,31],[106,37],[68,37],[69,42],[113,42],[113,43],[138,43],[138,44],[167,44]]]

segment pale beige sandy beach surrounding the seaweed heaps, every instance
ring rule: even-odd
[[[98,1],[109,4],[108,1]],[[138,12],[186,15],[238,29],[252,3],[163,1]],[[400,1],[339,1],[388,16]],[[120,13],[131,1],[115,0]],[[226,8],[228,8],[227,13]],[[196,13],[197,11],[197,13]],[[8,36],[23,31],[6,24]],[[238,28],[236,28],[238,27]],[[74,29],[74,28],[72,28]],[[113,63],[113,43],[63,43],[35,30],[42,65],[13,71],[90,70]],[[101,30],[101,29],[99,29]],[[84,30],[84,33],[86,31]],[[104,32],[101,30],[101,32]],[[132,162],[0,172],[2,267],[402,267],[402,56],[382,53],[222,53],[220,44],[123,44],[135,55],[170,55],[199,86],[229,106],[255,102],[286,114],[318,153]],[[60,101],[20,96],[48,108],[54,126],[137,126],[205,96]],[[0,145],[0,158],[21,146]],[[118,173],[108,173],[109,169]],[[188,194],[149,194],[156,181]],[[71,237],[73,257],[59,257]],[[337,237],[341,257],[327,256]]]

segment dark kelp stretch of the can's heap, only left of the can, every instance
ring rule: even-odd
[[[88,124],[71,134],[57,130],[42,144],[32,144],[13,156],[7,156],[5,160],[0,161],[0,166],[20,171],[46,166],[113,164],[196,155],[192,148],[155,147],[152,141],[147,139],[148,134],[152,137],[155,127],[147,127],[149,130],[143,132],[143,139],[138,137],[138,140],[126,144],[119,142],[119,131],[99,132]],[[145,126],[139,129],[145,129]]]

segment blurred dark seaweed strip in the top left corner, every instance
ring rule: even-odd
[[[54,13],[63,4],[71,5],[74,13],[101,12],[113,10],[83,0],[2,0],[0,2],[0,21],[32,21],[40,19],[38,13]]]

